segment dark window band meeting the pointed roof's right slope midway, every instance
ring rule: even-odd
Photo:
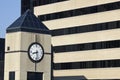
[[[98,12],[104,12],[104,11],[110,11],[110,10],[116,10],[116,9],[120,9],[120,1],[114,2],[114,3],[97,5],[97,6],[79,8],[74,10],[62,11],[57,13],[39,15],[38,18],[41,21],[47,21],[47,20],[86,15],[86,14],[92,14],[92,13],[98,13]]]

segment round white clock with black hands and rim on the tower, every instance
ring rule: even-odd
[[[40,62],[44,56],[43,47],[39,43],[32,43],[28,49],[28,56],[33,62]]]

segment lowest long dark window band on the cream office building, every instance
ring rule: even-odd
[[[54,70],[120,67],[120,59],[54,63]]]

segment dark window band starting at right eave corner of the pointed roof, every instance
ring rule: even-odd
[[[63,28],[63,29],[54,29],[51,30],[51,32],[52,32],[52,36],[61,36],[61,35],[109,30],[116,28],[120,28],[120,21],[113,21],[113,22],[106,22],[106,23],[99,23],[99,24],[92,24],[85,26],[76,26],[76,27]]]

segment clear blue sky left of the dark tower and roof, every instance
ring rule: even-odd
[[[20,17],[21,0],[1,0],[0,38],[5,38],[6,28]]]

